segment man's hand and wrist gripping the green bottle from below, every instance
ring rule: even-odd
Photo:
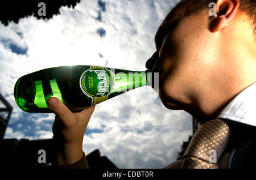
[[[83,156],[82,140],[95,105],[72,113],[58,98],[47,100],[49,109],[56,114],[52,131],[57,140],[55,165],[71,164]]]

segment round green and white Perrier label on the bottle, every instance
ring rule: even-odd
[[[114,84],[114,73],[101,66],[90,66],[80,78],[80,88],[86,96],[92,98],[92,105],[108,100]]]

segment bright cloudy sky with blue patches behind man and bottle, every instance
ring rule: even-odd
[[[74,9],[61,7],[50,20],[1,24],[0,93],[14,107],[5,139],[52,138],[53,114],[25,113],[15,104],[20,76],[65,65],[144,71],[155,51],[155,32],[177,2],[81,0]],[[192,117],[166,109],[154,93],[142,87],[98,104],[85,132],[85,153],[99,149],[118,168],[163,168],[174,162],[192,134]]]

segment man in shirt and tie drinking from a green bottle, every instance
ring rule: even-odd
[[[254,135],[244,136],[241,141],[232,137],[237,137],[240,127],[246,132],[256,126],[256,6],[255,1],[249,0],[218,0],[216,15],[212,15],[208,8],[210,2],[181,1],[167,15],[155,36],[156,52],[148,59],[146,67],[159,72],[156,91],[163,104],[168,109],[183,109],[200,122],[194,139],[207,132],[208,127],[215,127],[216,122],[221,129],[225,127],[224,134],[226,132],[228,138],[224,138],[220,146],[218,163],[220,168],[232,168],[239,163],[233,161],[230,166],[231,155],[239,159],[241,152],[250,151],[251,144],[255,144]],[[47,103],[56,114],[53,134],[59,146],[55,165],[85,167],[82,138],[94,106],[72,113],[55,97],[49,98]],[[58,124],[60,129],[56,128]],[[212,130],[216,132],[216,128]],[[195,147],[197,144],[192,142],[187,152]],[[193,164],[194,160],[201,161],[200,157],[193,157],[186,162],[174,162],[167,168],[193,168],[189,163]],[[204,168],[210,166],[208,163]]]

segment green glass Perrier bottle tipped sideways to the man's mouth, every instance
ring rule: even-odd
[[[101,66],[60,66],[18,79],[14,97],[29,113],[52,113],[49,97],[57,97],[72,111],[98,104],[144,85],[151,85],[151,71],[128,71]]]

